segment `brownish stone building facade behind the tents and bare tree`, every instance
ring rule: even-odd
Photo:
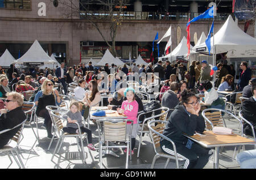
[[[3,6],[0,6],[0,55],[7,48],[14,58],[18,59],[19,54],[26,53],[31,44],[38,40],[49,55],[55,53],[59,62],[65,62],[68,66],[72,66],[80,62],[80,54],[82,62],[86,62],[90,58],[100,59],[108,49],[106,42],[92,23],[87,19],[82,19],[75,11],[74,7],[79,7],[79,0],[74,0],[70,6],[59,3],[57,7],[51,0],[11,1],[13,3],[10,1],[4,0]],[[230,2],[232,5],[232,1]],[[186,8],[189,8],[192,14],[195,13],[194,16],[207,10],[205,7],[195,6],[193,3],[197,2],[191,1]],[[168,6],[174,7],[174,5]],[[129,59],[130,52],[131,58],[137,58],[141,54],[143,59],[150,59],[152,41],[156,32],[159,33],[160,40],[170,25],[172,25],[172,49],[177,46],[183,36],[187,37],[188,12],[144,11],[146,7],[143,6],[143,1],[134,1],[127,7],[133,7],[133,9],[127,9],[123,14],[126,18],[118,28],[115,39],[120,59]],[[184,11],[188,11],[188,9]],[[227,11],[230,12],[230,10]],[[217,14],[214,21],[214,32],[217,32],[228,15],[232,14],[229,12]],[[196,37],[195,33],[197,38],[202,32],[207,35],[211,22],[211,20],[205,19],[191,24],[192,45],[194,44],[193,37]],[[104,20],[97,20],[97,25],[102,34],[109,37],[108,23]],[[238,22],[238,25],[243,29],[244,22]],[[177,29],[181,29],[181,31]],[[247,33],[254,37],[253,22],[249,25]],[[160,42],[160,56],[164,54],[167,40],[166,38]],[[154,56],[157,57],[157,53],[154,53]]]

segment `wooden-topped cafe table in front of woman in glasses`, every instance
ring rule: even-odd
[[[193,135],[188,136],[183,134],[187,138],[199,143],[205,148],[214,148],[214,168],[218,169],[219,160],[219,147],[233,146],[233,145],[246,145],[246,144],[256,144],[251,139],[247,139],[237,134],[232,135],[218,135],[214,134],[213,131],[204,131],[204,136]]]

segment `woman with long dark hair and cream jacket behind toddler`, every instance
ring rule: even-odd
[[[84,119],[86,119],[89,115],[89,109],[92,106],[99,106],[101,102],[101,94],[98,91],[98,85],[95,80],[91,80],[88,85],[89,91],[85,93],[84,99],[82,102],[84,103]]]

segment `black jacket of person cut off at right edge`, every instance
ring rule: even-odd
[[[253,125],[254,131],[256,132],[256,101],[253,97],[243,101],[242,114],[243,117]],[[253,135],[253,132],[251,132],[251,127],[247,123],[243,125],[243,132],[246,135]]]

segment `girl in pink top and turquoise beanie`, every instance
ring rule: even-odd
[[[131,130],[131,155],[133,155],[133,150],[135,147],[135,139],[137,136],[137,115],[139,105],[138,102],[135,101],[135,90],[133,88],[126,88],[124,92],[126,101],[122,102],[121,108],[117,108],[118,113],[122,113],[127,115],[127,119],[133,120],[133,129]],[[130,134],[131,123],[127,122],[127,134]],[[125,151],[127,152],[127,149]]]

